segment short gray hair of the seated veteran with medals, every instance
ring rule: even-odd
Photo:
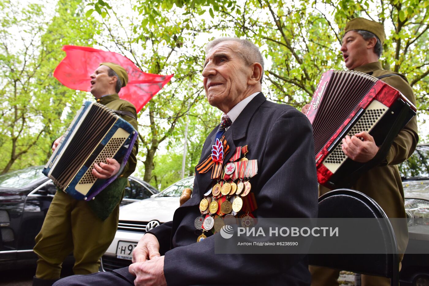
[[[233,38],[233,37],[222,37],[212,40],[207,44],[205,48],[205,53],[207,54],[214,46],[218,43],[226,42],[226,41],[234,41],[241,44],[241,49],[236,51],[237,55],[242,58],[245,63],[250,66],[253,63],[259,63],[262,66],[262,76],[260,82],[262,83],[263,74],[264,74],[264,58],[261,55],[258,47],[249,40]]]

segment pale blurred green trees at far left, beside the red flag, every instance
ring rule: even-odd
[[[45,164],[51,142],[82,103],[85,93],[52,77],[64,44],[91,45],[96,26],[82,18],[80,2],[58,1],[53,18],[42,5],[0,3],[1,173]]]

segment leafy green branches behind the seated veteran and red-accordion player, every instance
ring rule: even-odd
[[[88,1],[93,7],[91,11],[105,19],[109,18],[108,14],[111,18],[116,16],[121,23],[123,18],[110,6],[113,2],[109,3]],[[421,113],[427,113],[429,58],[423,51],[428,45],[428,5],[429,0],[133,2],[131,9],[138,16],[127,18],[128,25],[133,27],[127,34],[127,43],[142,47],[148,53],[137,59],[136,48],[128,48],[126,52],[133,54],[140,67],[151,72],[175,73],[172,84],[145,107],[141,116],[149,116],[149,122],[142,127],[150,129],[143,132],[141,138],[146,149],[145,180],[153,177],[151,169],[158,165],[154,154],[163,140],[168,140],[168,146],[175,146],[169,149],[170,156],[181,154],[178,146],[183,144],[180,140],[184,114],[199,115],[199,128],[190,131],[193,138],[198,133],[206,134],[202,128],[209,131],[218,122],[216,113],[202,100],[202,77],[198,76],[205,54],[205,42],[199,41],[202,35],[208,40],[233,36],[256,43],[266,57],[263,86],[266,96],[300,108],[310,101],[323,72],[344,69],[339,49],[346,22],[359,16],[381,21],[388,36],[381,61],[385,68],[408,77],[417,96],[417,107]],[[190,151],[196,153],[190,155],[195,164],[203,138],[191,142],[196,143],[195,151]],[[157,158],[165,161],[161,157]],[[181,164],[177,164],[176,174],[180,167]],[[157,170],[155,173],[159,177]]]

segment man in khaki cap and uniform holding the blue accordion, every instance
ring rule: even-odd
[[[118,96],[128,82],[125,69],[118,64],[102,63],[88,81],[91,81],[91,93],[97,102],[113,110],[137,130],[136,108]],[[60,140],[61,137],[55,140],[53,151]],[[120,176],[94,200],[78,201],[65,192],[56,192],[42,229],[36,236],[34,252],[39,259],[33,285],[52,285],[58,280],[61,264],[72,251],[76,260],[74,274],[98,272],[100,257],[115,237],[119,202],[128,183],[127,177],[136,168],[137,152],[136,140]],[[120,170],[120,164],[114,158],[106,161],[108,164],[94,164],[92,174],[96,178],[108,179]]]

